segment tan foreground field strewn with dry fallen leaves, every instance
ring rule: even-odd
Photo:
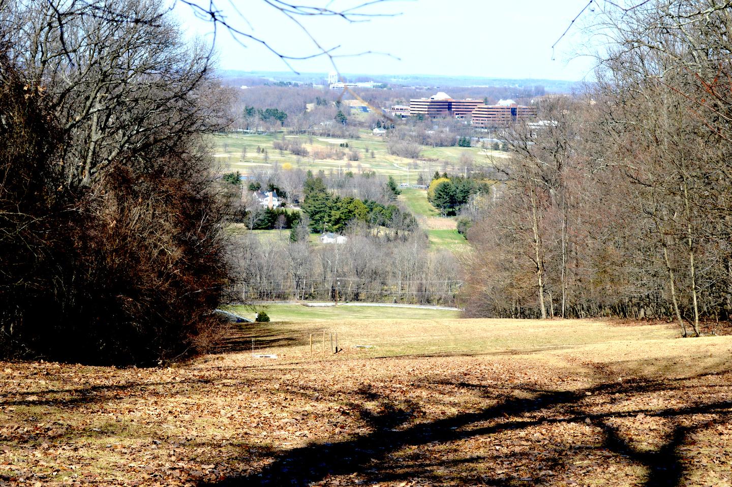
[[[0,482],[730,486],[732,337],[676,335],[339,319],[236,327],[176,368],[2,363]]]

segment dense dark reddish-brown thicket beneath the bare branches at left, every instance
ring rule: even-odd
[[[155,365],[205,351],[228,267],[201,126],[71,184],[74,134],[52,101],[0,59],[0,357]]]

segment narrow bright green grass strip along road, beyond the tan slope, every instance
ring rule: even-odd
[[[424,308],[392,308],[389,306],[338,306],[307,307],[303,305],[257,305],[256,310],[266,311],[272,321],[334,321],[354,319],[398,319],[408,314],[410,319],[454,319],[458,311],[430,310]],[[254,311],[246,306],[232,306],[231,311],[248,318]]]

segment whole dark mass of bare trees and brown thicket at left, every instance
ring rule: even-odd
[[[151,364],[200,350],[228,283],[201,137],[226,103],[208,51],[160,1],[2,7],[2,353]]]

